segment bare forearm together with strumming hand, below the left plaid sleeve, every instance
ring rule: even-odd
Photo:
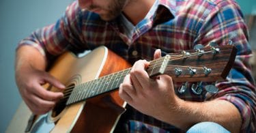
[[[44,57],[35,48],[18,49],[16,85],[23,100],[35,115],[47,113],[63,98],[63,93],[47,91],[42,85],[49,83],[58,89],[65,89],[59,80],[44,71],[44,65]]]

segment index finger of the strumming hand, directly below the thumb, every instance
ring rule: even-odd
[[[35,87],[33,90],[33,94],[37,95],[39,98],[42,98],[43,100],[48,101],[58,101],[60,98],[63,98],[63,93],[61,92],[53,92],[53,91],[47,91],[39,84],[35,84]]]

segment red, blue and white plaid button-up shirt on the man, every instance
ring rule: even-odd
[[[195,95],[190,90],[177,95],[192,101],[227,100],[240,111],[241,132],[256,132],[255,85],[248,64],[252,55],[238,3],[232,0],[159,0],[157,6],[156,12],[148,14],[149,17],[134,27],[132,35],[127,35],[120,17],[105,22],[98,14],[81,10],[74,1],[57,23],[33,32],[19,46],[34,46],[51,60],[66,50],[81,52],[104,45],[134,63],[139,59],[152,60],[157,48],[162,53],[178,53],[193,48],[195,44],[206,46],[214,41],[225,45],[233,40],[238,53],[227,80],[216,84],[221,91],[210,96],[208,93]],[[175,87],[179,85],[175,83]],[[127,112],[121,121],[126,123],[124,126],[130,132],[174,129],[130,106]]]

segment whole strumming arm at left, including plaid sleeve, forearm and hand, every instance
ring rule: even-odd
[[[52,59],[63,53],[70,44],[79,43],[74,29],[69,23],[78,11],[76,3],[67,8],[67,14],[54,25],[33,32],[29,38],[20,41],[16,50],[16,84],[23,100],[35,114],[44,114],[51,110],[63,93],[46,91],[42,85],[49,83],[59,89],[65,87],[46,72]],[[70,9],[74,10],[73,12]]]

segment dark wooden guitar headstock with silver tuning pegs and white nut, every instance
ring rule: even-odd
[[[233,45],[196,48],[151,61],[147,72],[168,74],[175,82],[214,82],[225,80],[235,58]]]

